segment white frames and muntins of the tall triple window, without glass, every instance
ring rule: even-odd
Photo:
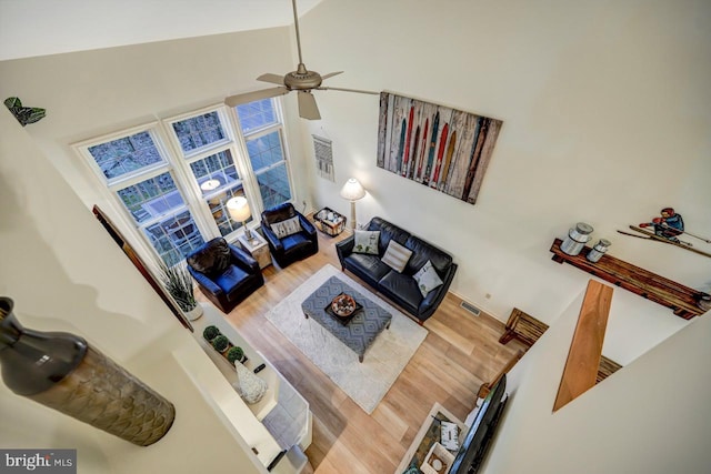
[[[110,201],[112,206],[119,209],[119,222],[126,225],[126,228],[129,229],[130,232],[134,232],[138,234],[139,242],[146,246],[146,251],[151,255],[151,260],[161,262],[163,261],[163,258],[148,238],[147,229],[154,225],[156,223],[161,222],[162,220],[166,220],[166,218],[177,216],[186,210],[190,213],[200,235],[206,242],[216,236],[223,236],[226,240],[228,240],[228,242],[234,242],[237,241],[238,235],[244,232],[244,229],[242,229],[242,223],[239,223],[234,226],[232,232],[226,235],[221,234],[220,228],[218,226],[218,223],[216,222],[216,219],[208,203],[208,200],[211,196],[210,194],[202,194],[202,190],[198,184],[198,179],[194,177],[194,173],[190,167],[191,163],[203,160],[222,151],[229,151],[239,177],[239,182],[230,188],[218,188],[214,191],[214,195],[224,192],[226,189],[241,189],[244,196],[250,203],[252,216],[250,218],[250,221],[248,221],[248,228],[252,230],[261,225],[260,215],[264,210],[258,175],[277,167],[283,165],[290,193],[290,199],[286,200],[284,202],[293,203],[296,201],[296,186],[293,183],[293,175],[290,165],[291,160],[289,155],[289,148],[287,144],[287,130],[282,101],[281,98],[271,98],[270,100],[276,114],[276,123],[260,127],[259,129],[251,130],[249,133],[244,133],[242,131],[237,108],[231,108],[227,107],[226,104],[219,103],[183,112],[177,115],[171,115],[157,121],[147,122],[140,125],[130,127],[111,133],[98,135],[78,143],[73,143],[70,147],[74,149],[74,151],[82,158],[81,161],[83,161],[84,164],[89,167],[89,169],[91,169],[91,174],[93,174],[98,180],[97,184],[100,183],[99,185],[93,186],[97,192],[106,196],[107,200]],[[184,152],[181,147],[178,133],[173,129],[173,124],[176,122],[200,117],[211,112],[217,112],[218,118],[220,119],[220,124],[222,127],[224,138],[217,142],[209,143],[207,145]],[[259,139],[273,131],[278,131],[282,151],[282,160],[278,163],[272,163],[269,167],[262,168],[257,171],[252,168],[247,149],[247,143],[248,141]],[[150,134],[150,138],[160,154],[161,161],[140,170],[133,170],[114,179],[109,179],[103,173],[89,149],[102,143],[128,138],[141,132],[148,132]],[[119,191],[128,186],[141,183],[146,180],[157,178],[166,172],[170,173],[171,179],[176,184],[177,191],[180,192],[183,204],[174,211],[163,213],[158,216],[151,216],[146,222],[138,222],[122,201],[121,196],[119,195]],[[214,195],[212,198],[214,198]],[[174,244],[174,242],[172,243]],[[177,245],[176,248],[178,249]],[[181,262],[184,262],[184,256],[182,256],[178,264],[181,264]]]

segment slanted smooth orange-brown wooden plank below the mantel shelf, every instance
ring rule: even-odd
[[[590,280],[580,307],[553,412],[594,386],[608,326],[612,288]]]

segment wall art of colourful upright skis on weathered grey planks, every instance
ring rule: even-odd
[[[502,123],[381,92],[378,167],[474,204]]]

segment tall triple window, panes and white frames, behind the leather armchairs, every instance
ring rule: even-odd
[[[227,212],[231,198],[248,199],[248,222],[256,222],[263,209],[291,200],[277,99],[239,105],[234,115],[220,105],[163,123],[74,149],[126,210],[137,234],[168,265],[214,236],[234,239],[242,222]]]

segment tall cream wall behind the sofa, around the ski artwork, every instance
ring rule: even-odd
[[[709,20],[705,1],[324,1],[301,30],[307,65],[346,71],[328,85],[391,91],[503,128],[470,205],[375,167],[378,97],[318,92],[323,120],[304,137],[333,140],[338,182],[314,179],[314,200],[348,214],[338,191],[357,177],[369,191],[359,221],[381,215],[451,251],[452,291],[502,321],[519,307],[550,323],[584,289],[589,275],[549,252],[579,221],[612,241],[610,254],[709,291],[711,259],[615,232],[671,205],[690,232],[711,235]],[[685,324],[622,293],[604,347],[613,360]]]

